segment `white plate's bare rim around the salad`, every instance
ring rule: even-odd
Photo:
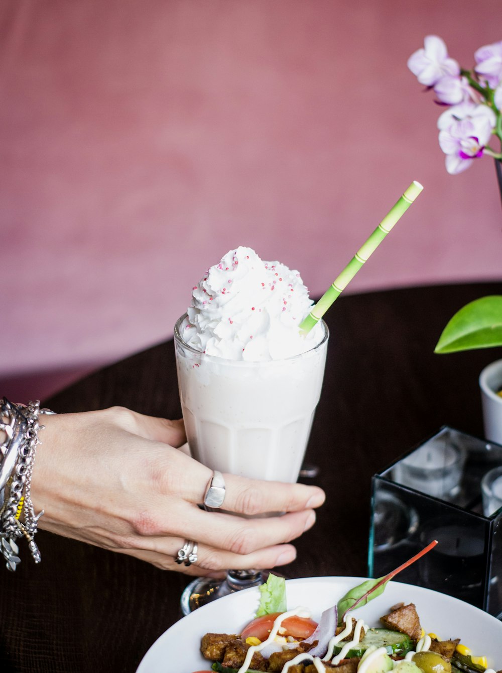
[[[319,619],[321,612],[339,599],[364,577],[308,577],[288,579],[288,609],[308,607]],[[239,633],[253,619],[259,602],[257,588],[225,596],[183,617],[167,629],[144,656],[137,673],[192,673],[210,670],[210,662],[200,653],[204,633]],[[392,605],[415,603],[426,633],[436,633],[443,640],[460,638],[475,656],[485,655],[488,665],[502,668],[502,623],[483,610],[457,598],[430,589],[401,582],[390,582],[382,596],[355,610],[370,626]],[[209,665],[208,665],[209,664]],[[174,668],[173,668],[174,667]]]

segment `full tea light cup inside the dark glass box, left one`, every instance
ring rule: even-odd
[[[426,495],[448,499],[458,492],[464,455],[437,437],[419,447],[394,468],[394,481]]]

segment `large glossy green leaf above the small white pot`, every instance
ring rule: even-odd
[[[455,353],[502,346],[502,296],[466,304],[444,328],[434,353]]]

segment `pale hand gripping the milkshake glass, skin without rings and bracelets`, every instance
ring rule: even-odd
[[[183,421],[167,421],[113,407],[44,416],[32,501],[44,509],[39,528],[130,554],[159,568],[190,575],[221,575],[228,568],[290,563],[287,544],[315,522],[321,489],[225,474],[224,509],[204,511],[212,470],[178,447]],[[175,563],[185,539],[198,544],[196,565]]]

